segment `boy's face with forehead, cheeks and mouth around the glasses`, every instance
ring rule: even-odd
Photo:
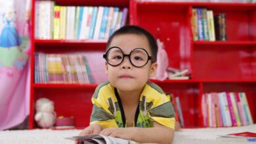
[[[117,46],[121,48],[123,54],[130,54],[135,48],[144,48],[149,56],[152,56],[148,40],[144,35],[121,34],[116,35],[110,47]],[[157,63],[151,60],[143,67],[135,67],[127,56],[123,58],[123,62],[117,66],[106,65],[106,75],[108,81],[118,90],[133,91],[142,90],[149,77],[154,77],[156,73]]]

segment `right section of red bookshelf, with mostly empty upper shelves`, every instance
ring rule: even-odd
[[[226,13],[227,41],[193,41],[192,8]],[[169,66],[189,69],[192,79],[153,81],[181,99],[184,125],[203,127],[201,97],[206,92],[245,92],[256,122],[256,5],[251,3],[136,2],[131,24],[165,44]]]

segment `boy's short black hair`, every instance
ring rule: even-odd
[[[119,29],[117,29],[108,39],[106,50],[108,50],[110,43],[116,37],[117,35],[123,35],[123,34],[136,34],[136,35],[144,35],[146,39],[148,39],[148,44],[150,45],[150,50],[152,53],[152,62],[156,62],[157,55],[158,55],[158,44],[156,43],[156,39],[153,37],[153,35],[146,31],[146,29],[143,29],[139,26],[123,26]]]

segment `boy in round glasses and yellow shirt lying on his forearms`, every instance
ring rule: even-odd
[[[173,105],[148,82],[158,67],[154,37],[138,26],[124,26],[108,39],[106,75],[93,95],[90,126],[80,135],[102,134],[139,143],[172,143]]]

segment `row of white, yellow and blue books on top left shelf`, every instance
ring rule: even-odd
[[[125,26],[128,9],[74,7],[54,1],[35,1],[36,39],[108,39]]]

